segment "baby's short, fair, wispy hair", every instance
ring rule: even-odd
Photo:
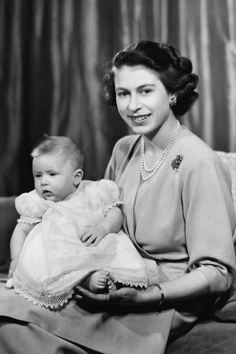
[[[60,154],[71,161],[75,170],[82,169],[84,156],[78,144],[66,136],[49,136],[44,134],[31,152],[31,157],[45,154]]]

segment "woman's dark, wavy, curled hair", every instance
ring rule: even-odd
[[[115,69],[120,69],[123,65],[140,65],[157,72],[166,91],[176,95],[177,104],[171,107],[176,117],[188,112],[198,98],[198,93],[194,91],[198,76],[192,74],[192,62],[189,58],[181,57],[170,44],[139,41],[116,53],[107,63],[103,85],[105,100],[110,105],[116,106]]]

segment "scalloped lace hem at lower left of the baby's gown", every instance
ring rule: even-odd
[[[33,295],[28,289],[14,277],[14,290],[19,296],[28,299],[29,302],[33,301],[34,305],[44,306],[46,308],[58,309],[64,306],[74,294],[74,289],[70,288],[56,295]]]

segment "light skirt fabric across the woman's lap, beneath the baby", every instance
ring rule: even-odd
[[[24,337],[30,338],[28,333],[34,333],[35,338],[43,340],[41,333],[44,333],[45,338],[48,338],[47,345],[57,343],[57,340],[60,343],[63,341],[64,344],[60,345],[64,346],[65,343],[74,343],[71,345],[77,348],[77,352],[80,346],[80,350],[86,350],[84,347],[88,347],[95,350],[95,353],[96,350],[100,353],[110,353],[112,348],[113,354],[143,354],[146,348],[149,348],[150,354],[161,354],[165,350],[174,311],[167,309],[158,312],[158,307],[154,304],[149,308],[125,308],[73,300],[61,312],[52,312],[19,297],[12,289],[6,291],[4,285],[0,286],[0,298],[0,316],[7,316],[10,321],[17,320],[15,324],[8,323],[1,327],[2,333],[6,335],[5,345],[6,340],[9,345],[11,343],[11,331],[17,331],[22,341]],[[25,321],[26,324],[19,324],[19,320]],[[40,342],[37,338],[35,341]],[[23,342],[21,345],[24,348],[24,345],[29,344]],[[91,349],[88,349],[90,352],[87,353],[94,353]],[[23,352],[27,353],[27,350]]]

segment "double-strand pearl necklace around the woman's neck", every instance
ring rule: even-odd
[[[171,149],[174,139],[176,138],[178,131],[179,131],[179,121],[177,120],[177,127],[174,131],[174,134],[171,137],[171,140],[169,141],[169,144],[167,145],[166,149],[164,150],[163,154],[161,155],[160,159],[156,161],[156,163],[151,167],[151,169],[148,169],[146,166],[146,159],[145,159],[145,143],[144,140],[142,142],[142,149],[141,149],[141,177],[143,179],[143,181],[148,181],[148,179],[150,179],[151,177],[153,177],[155,175],[155,173],[159,170],[159,168],[161,167],[162,162],[165,160],[166,156],[168,155],[169,150]],[[150,175],[148,175],[147,177],[144,177],[143,175],[143,169],[146,172],[151,172]]]

